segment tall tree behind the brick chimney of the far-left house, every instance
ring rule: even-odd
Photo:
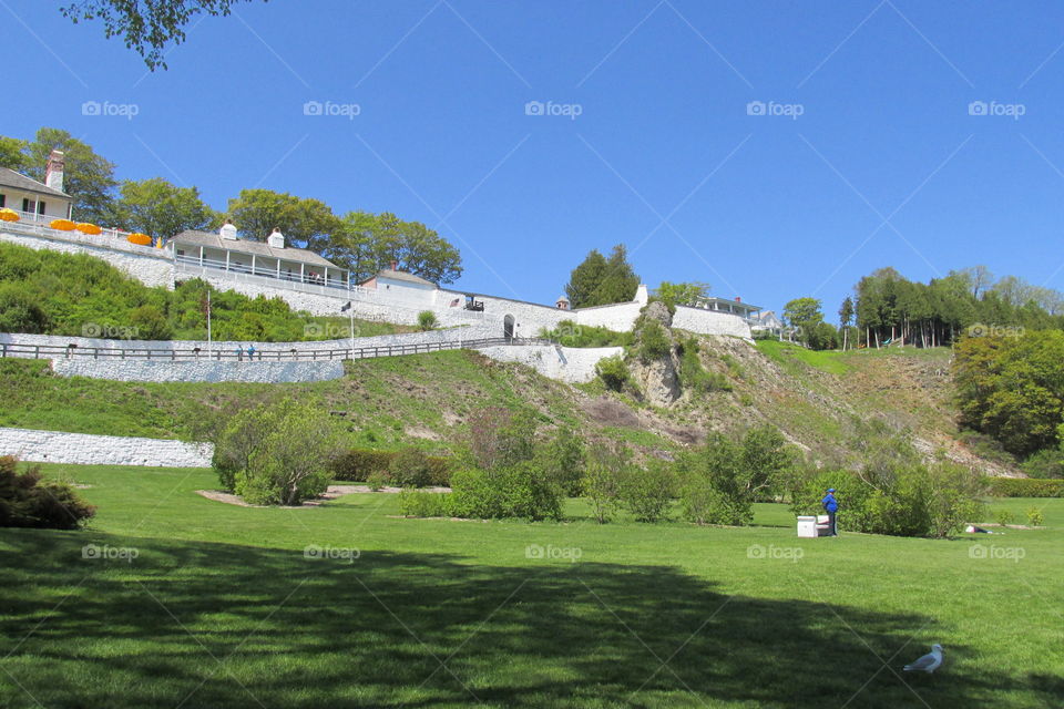
[[[114,163],[104,160],[66,131],[42,127],[29,144],[25,174],[44,182],[48,157],[63,152],[63,192],[74,198],[73,216],[81,222],[106,225],[114,219]]]

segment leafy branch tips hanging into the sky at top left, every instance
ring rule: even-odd
[[[166,69],[166,45],[185,39],[184,28],[200,13],[227,16],[247,0],[76,0],[60,11],[76,24],[80,20],[103,22],[108,39],[121,37],[129,49],[144,59],[149,69]],[[264,0],[265,1],[265,0]]]

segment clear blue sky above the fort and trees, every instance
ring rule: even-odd
[[[272,0],[155,73],[60,4],[0,0],[0,133],[69,130],[218,209],[265,187],[424,222],[469,290],[551,302],[617,243],[652,287],[831,319],[881,266],[1064,289],[1060,3]]]

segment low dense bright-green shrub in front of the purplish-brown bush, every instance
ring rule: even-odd
[[[561,518],[557,487],[533,463],[485,471],[468,469],[451,476],[451,514],[477,520]]]

